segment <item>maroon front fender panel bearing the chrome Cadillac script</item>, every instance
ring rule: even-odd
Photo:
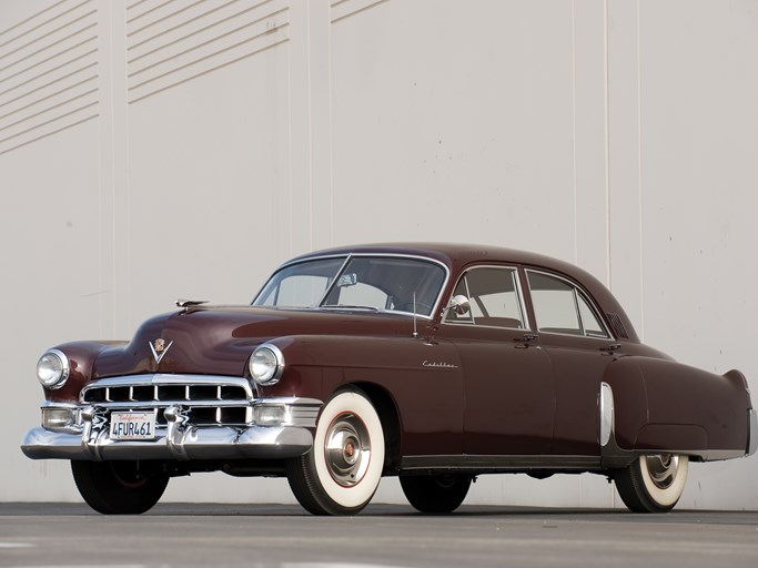
[[[348,384],[375,385],[393,402],[403,455],[459,454],[465,396],[456,347],[413,337],[289,336],[272,339],[285,369],[265,396],[327,399]]]

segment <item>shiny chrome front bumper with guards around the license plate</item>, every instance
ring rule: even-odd
[[[32,459],[277,459],[302,456],[313,446],[312,430],[322,406],[313,398],[262,398],[251,403],[253,416],[263,408],[276,408],[265,425],[193,425],[181,405],[164,408],[165,425],[145,440],[114,440],[110,437],[109,408],[93,405],[69,408],[79,424],[29,430],[21,450]],[[54,404],[46,405],[48,408]],[[43,409],[46,408],[43,406]]]

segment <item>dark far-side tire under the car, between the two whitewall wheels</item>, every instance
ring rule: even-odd
[[[401,476],[400,485],[408,503],[422,513],[452,513],[468,494],[472,478],[462,475]]]

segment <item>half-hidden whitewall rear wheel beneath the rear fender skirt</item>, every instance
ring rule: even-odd
[[[614,475],[624,504],[635,513],[666,513],[681,497],[689,458],[676,454],[640,456]]]

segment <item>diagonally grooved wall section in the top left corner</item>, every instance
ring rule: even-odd
[[[0,31],[0,154],[98,115],[95,0],[62,0]]]

